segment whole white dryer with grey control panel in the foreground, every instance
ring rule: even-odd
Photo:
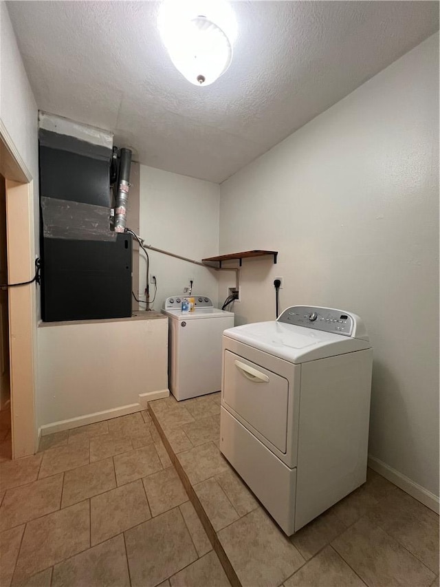
[[[223,334],[223,455],[292,535],[366,480],[373,350],[351,312],[293,306]]]

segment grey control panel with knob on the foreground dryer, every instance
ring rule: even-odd
[[[314,330],[324,330],[333,334],[353,335],[354,321],[351,314],[334,308],[314,308],[313,306],[292,306],[284,310],[277,322],[305,326]]]

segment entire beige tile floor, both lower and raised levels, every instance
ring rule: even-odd
[[[219,453],[219,394],[150,409],[170,455],[138,412],[0,462],[0,587],[228,586],[216,551],[243,586],[439,585],[438,516],[377,473],[288,540]]]

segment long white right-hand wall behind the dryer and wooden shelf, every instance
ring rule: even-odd
[[[219,253],[243,262],[239,322],[351,310],[374,349],[370,453],[439,495],[438,34],[221,185]],[[225,281],[219,295],[224,294]]]

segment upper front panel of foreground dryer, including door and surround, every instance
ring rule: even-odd
[[[300,365],[223,337],[222,405],[288,467],[296,466]]]

